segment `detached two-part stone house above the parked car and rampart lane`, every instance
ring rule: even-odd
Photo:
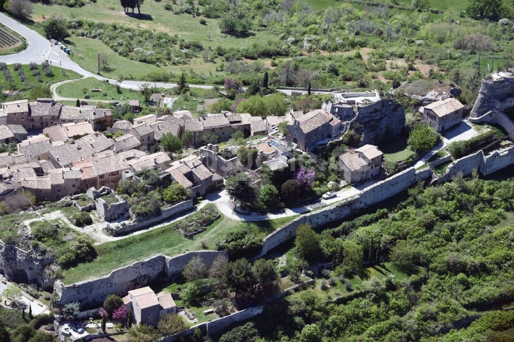
[[[374,145],[364,145],[339,156],[339,166],[348,184],[362,183],[380,174],[382,152]]]

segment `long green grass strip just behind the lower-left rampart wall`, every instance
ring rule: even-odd
[[[172,223],[143,234],[95,246],[98,258],[65,270],[62,280],[65,283],[73,283],[107,275],[114,269],[148,259],[157,254],[171,256],[182,252],[202,250],[202,241],[206,243],[208,250],[214,250],[216,240],[222,239],[227,233],[236,230],[245,230],[264,237],[296,217],[247,222],[222,216],[221,219],[212,223],[205,232],[195,235],[192,240],[183,237],[175,229],[176,224]]]

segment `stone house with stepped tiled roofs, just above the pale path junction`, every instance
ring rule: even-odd
[[[173,181],[190,189],[193,198],[214,190],[218,186],[218,180],[222,179],[213,177],[212,172],[196,156],[177,160],[164,172],[170,174]]]

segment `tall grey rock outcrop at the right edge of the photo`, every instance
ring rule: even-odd
[[[493,73],[482,80],[479,96],[471,110],[471,118],[480,118],[490,111],[506,113],[513,109],[514,74],[510,72]]]

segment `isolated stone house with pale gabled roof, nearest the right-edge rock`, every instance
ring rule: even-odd
[[[437,132],[442,132],[462,121],[464,105],[457,99],[446,99],[423,107],[421,119]]]

